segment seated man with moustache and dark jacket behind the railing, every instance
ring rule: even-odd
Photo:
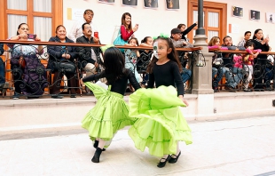
[[[92,29],[89,23],[83,24],[83,36],[78,37],[76,39],[76,43],[82,44],[98,44],[99,40],[93,39],[91,36]],[[95,42],[97,41],[97,42]],[[98,68],[97,62],[97,54],[99,54],[100,50],[98,47],[91,47],[91,46],[78,46],[75,47],[76,52],[79,55],[79,62],[81,63],[81,67],[84,68],[86,71],[86,76],[90,76],[96,74]],[[99,60],[98,60],[99,61]]]

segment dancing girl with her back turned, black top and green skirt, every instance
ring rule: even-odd
[[[114,133],[124,126],[134,124],[135,119],[129,117],[129,107],[123,100],[123,95],[128,82],[135,90],[140,88],[132,71],[125,68],[124,56],[119,49],[106,49],[103,58],[105,70],[81,80],[98,99],[95,107],[90,109],[82,121],[83,128],[89,131],[90,140],[96,140],[94,147],[97,150],[91,159],[93,163],[99,163],[101,152],[107,147],[106,140],[112,140]],[[103,77],[106,77],[108,83],[107,90],[90,83]]]

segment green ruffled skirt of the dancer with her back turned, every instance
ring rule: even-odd
[[[106,90],[98,84],[85,85],[98,100],[82,121],[83,128],[89,131],[90,140],[112,140],[118,130],[134,124],[135,118],[129,117],[129,106],[123,100],[122,94],[111,92],[111,86]]]

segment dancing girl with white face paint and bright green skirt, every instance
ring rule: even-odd
[[[153,54],[147,68],[150,89],[139,89],[130,95],[130,116],[138,120],[130,127],[129,135],[136,148],[144,151],[147,147],[151,155],[161,156],[157,166],[164,167],[167,161],[177,162],[181,154],[178,141],[191,144],[192,135],[179,108],[188,103],[184,99],[182,68],[172,40],[159,36],[153,43]]]

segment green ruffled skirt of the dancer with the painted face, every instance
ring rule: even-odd
[[[191,144],[192,134],[180,107],[185,103],[177,97],[173,86],[138,89],[130,95],[130,117],[138,118],[129,135],[141,151],[149,148],[153,156],[177,153],[177,141]]]

